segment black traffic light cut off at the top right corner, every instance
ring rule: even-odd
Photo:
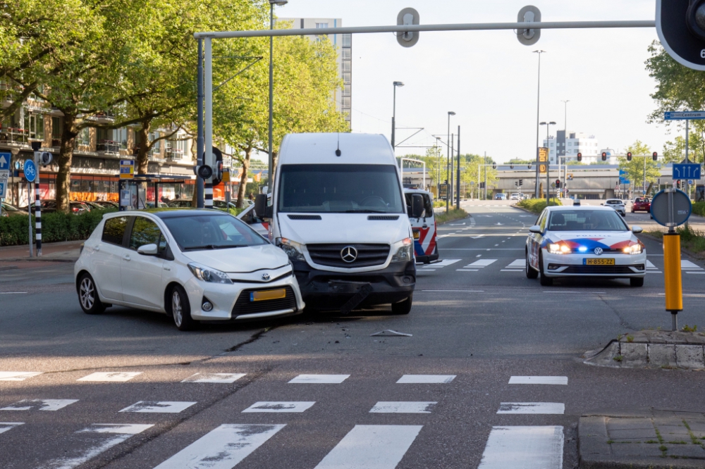
[[[675,61],[705,70],[705,0],[656,0],[656,31]]]

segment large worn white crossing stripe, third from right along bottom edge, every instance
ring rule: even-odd
[[[154,469],[232,469],[286,425],[220,425]]]

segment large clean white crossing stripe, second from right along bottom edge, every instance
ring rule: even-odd
[[[315,469],[394,469],[422,425],[355,425]]]

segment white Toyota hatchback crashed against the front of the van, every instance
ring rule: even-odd
[[[305,307],[288,257],[219,211],[109,213],[74,267],[85,313],[113,304],[198,320],[293,315]]]

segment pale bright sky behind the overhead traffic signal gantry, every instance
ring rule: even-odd
[[[276,7],[282,18],[341,18],[343,26],[393,25],[400,10],[419,11],[422,24],[514,22],[527,0],[289,0]],[[544,21],[653,20],[655,0],[539,0]],[[460,125],[461,152],[495,161],[533,159],[537,139],[538,56],[541,54],[541,121],[594,135],[600,149],[622,151],[639,139],[663,152],[675,127],[648,124],[656,108],[655,82],[644,67],[655,28],[545,30],[534,46],[520,44],[513,31],[422,32],[411,48],[393,33],[353,35],[353,132],[391,135],[394,81],[397,142],[431,146],[432,135]],[[541,140],[546,127],[541,127]],[[443,137],[445,139],[445,137]],[[398,148],[397,154],[425,154]]]

